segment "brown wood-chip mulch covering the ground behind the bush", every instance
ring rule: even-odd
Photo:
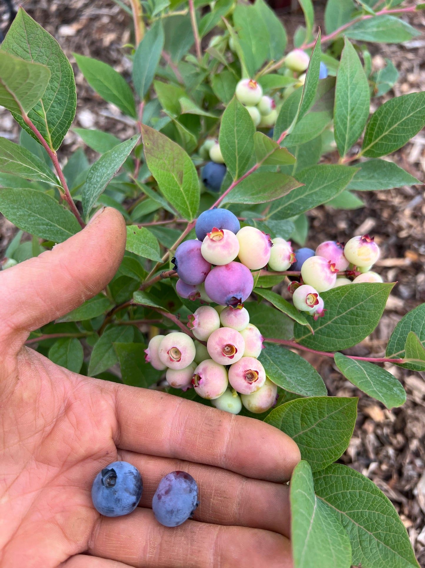
[[[318,6],[318,21],[322,2]],[[134,124],[112,105],[102,101],[83,80],[72,52],[96,57],[129,75],[130,62],[123,45],[131,41],[131,18],[110,0],[24,0],[23,7],[53,34],[70,58],[76,74],[78,108],[74,126],[99,128],[121,139],[133,135]],[[2,8],[3,10],[3,8]],[[406,17],[420,31],[424,30],[424,12]],[[0,12],[0,24],[7,15]],[[300,14],[284,16],[291,36]],[[425,35],[404,45],[370,46],[373,66],[384,66],[388,57],[400,72],[393,91],[380,101],[372,100],[372,110],[387,98],[425,90]],[[18,128],[10,114],[0,111],[0,136],[17,140]],[[70,132],[60,150],[59,159],[75,151],[82,141]],[[90,155],[90,154],[89,154]],[[95,157],[95,154],[92,154]],[[392,154],[391,159],[413,176],[425,182],[425,131]],[[336,161],[336,156],[326,161]],[[377,272],[385,281],[397,281],[384,316],[371,336],[347,354],[382,356],[386,341],[397,321],[418,304],[425,302],[425,193],[424,186],[405,186],[375,193],[362,192],[366,207],[355,211],[334,211],[317,207],[309,212],[311,229],[307,246],[316,248],[324,240],[347,241],[350,236],[371,232],[381,246]],[[0,254],[4,253],[16,229],[0,219]],[[354,435],[342,462],[371,478],[394,503],[405,524],[420,565],[425,568],[425,374],[413,373],[390,364],[385,368],[405,386],[407,402],[391,412],[376,400],[358,391],[333,365],[332,360],[309,354],[333,396],[359,396],[358,420]]]

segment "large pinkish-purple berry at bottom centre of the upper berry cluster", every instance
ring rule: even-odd
[[[205,279],[205,291],[211,300],[221,306],[242,304],[254,287],[249,269],[240,262],[215,266]]]

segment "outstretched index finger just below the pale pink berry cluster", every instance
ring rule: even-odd
[[[300,461],[294,440],[260,420],[167,394],[114,385],[116,446],[284,482]]]

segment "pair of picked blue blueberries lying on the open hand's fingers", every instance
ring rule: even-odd
[[[116,461],[96,475],[91,496],[96,511],[101,515],[120,517],[134,511],[142,490],[142,476],[137,467]],[[165,475],[152,499],[156,520],[164,527],[178,527],[192,518],[198,505],[197,483],[185,471],[172,471]]]

